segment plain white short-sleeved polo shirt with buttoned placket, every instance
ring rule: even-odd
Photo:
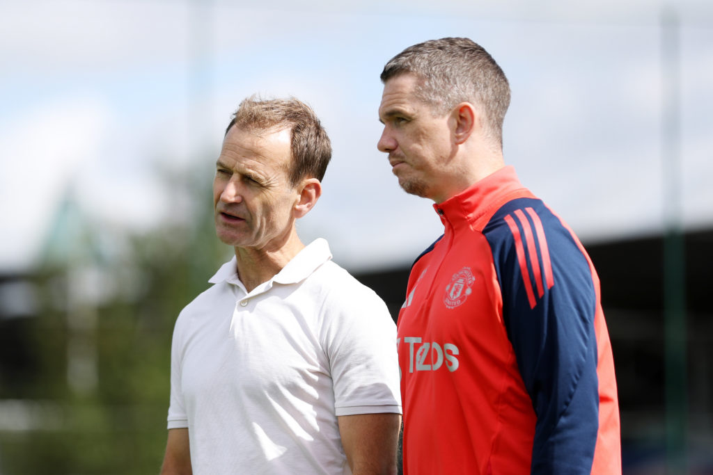
[[[396,325],[324,239],[247,293],[235,257],[178,316],[168,428],[193,473],[349,474],[337,416],[401,413]]]

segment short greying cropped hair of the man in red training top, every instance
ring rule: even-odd
[[[446,114],[461,102],[480,107],[491,137],[503,144],[510,85],[485,48],[469,38],[424,41],[391,58],[381,72],[381,81],[405,73],[419,78],[416,95],[436,114]]]

